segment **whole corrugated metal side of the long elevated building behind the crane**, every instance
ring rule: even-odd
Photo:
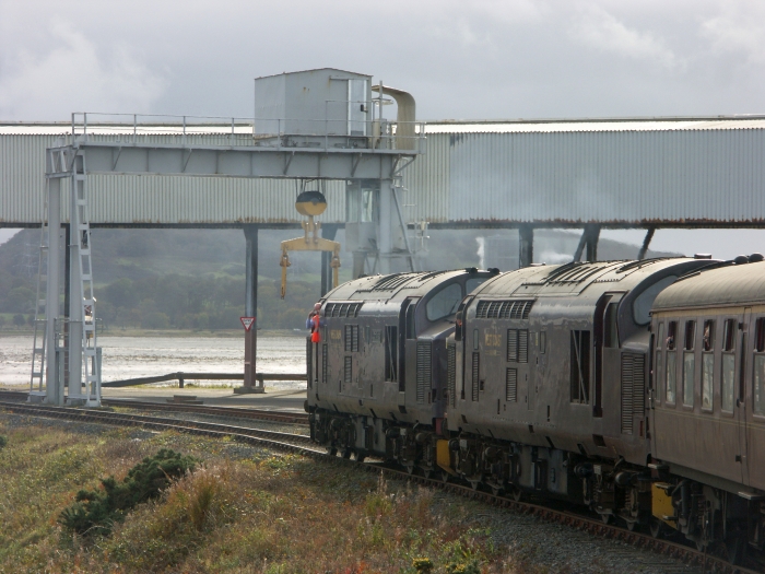
[[[404,215],[433,223],[765,222],[765,121],[654,124],[428,127],[427,153],[403,172]],[[45,148],[57,138],[0,134],[0,222],[40,220]],[[231,143],[227,134],[186,141]],[[89,181],[94,223],[299,221],[294,181],[133,175]],[[328,183],[327,195],[321,221],[344,221],[343,183]]]

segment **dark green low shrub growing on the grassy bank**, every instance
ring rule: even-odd
[[[130,469],[122,482],[101,481],[103,490],[78,492],[74,504],[59,516],[59,524],[79,535],[108,534],[136,505],[155,499],[173,479],[193,470],[196,459],[163,448]]]

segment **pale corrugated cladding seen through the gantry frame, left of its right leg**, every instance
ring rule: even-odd
[[[0,223],[37,223],[43,219],[45,149],[57,139],[58,136],[0,136]],[[179,137],[139,139],[170,143]],[[193,143],[226,145],[228,138],[193,137]],[[68,190],[66,185],[64,190]],[[294,180],[91,175],[87,190],[92,223],[299,223],[303,220],[295,211]],[[327,211],[317,218],[319,221],[345,221],[344,191],[344,181],[326,183]],[[62,206],[63,221],[69,221],[68,207]]]

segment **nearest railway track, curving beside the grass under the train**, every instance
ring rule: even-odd
[[[5,394],[2,394],[4,398]],[[153,405],[153,403],[152,403]],[[156,431],[176,431],[189,434],[223,437],[229,436],[236,441],[256,445],[269,446],[274,449],[302,454],[316,459],[332,460],[337,464],[355,465],[372,472],[382,472],[389,478],[410,480],[415,483],[431,488],[442,489],[460,496],[478,500],[487,504],[509,509],[520,514],[532,514],[548,522],[556,522],[572,528],[586,530],[590,535],[600,538],[610,538],[623,541],[633,547],[651,551],[659,558],[669,557],[680,560],[688,565],[702,569],[702,572],[714,572],[723,574],[756,574],[760,570],[750,570],[743,566],[732,565],[725,560],[705,554],[694,548],[686,547],[670,540],[652,538],[636,531],[629,531],[613,525],[603,524],[600,518],[580,515],[566,509],[557,509],[533,502],[515,501],[513,499],[498,496],[489,492],[473,490],[468,485],[440,480],[429,479],[417,475],[409,475],[404,470],[398,470],[382,466],[379,462],[356,462],[340,457],[330,457],[326,452],[318,450],[313,445],[309,437],[291,433],[279,433],[262,431],[242,426],[202,423],[196,421],[168,422],[168,419],[157,417],[145,417],[140,414],[125,414],[109,411],[92,411],[85,409],[67,407],[47,407],[38,405],[26,405],[13,401],[0,401],[0,409],[17,414],[34,417],[46,417],[56,419],[74,420],[118,426],[140,426]]]

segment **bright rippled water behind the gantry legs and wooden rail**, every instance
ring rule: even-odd
[[[108,337],[99,336],[104,382],[195,373],[242,373],[244,338],[239,337]],[[258,335],[259,373],[305,373],[305,337]],[[28,385],[32,337],[0,337],[0,384]],[[187,379],[190,383],[191,379]],[[196,383],[196,382],[195,382]],[[242,385],[200,380],[199,385]],[[270,382],[278,388],[302,388],[301,382]]]

